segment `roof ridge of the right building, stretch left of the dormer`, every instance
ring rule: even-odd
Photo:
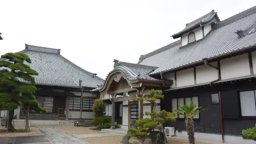
[[[177,40],[177,41],[175,41],[175,42],[172,42],[172,43],[169,44],[169,45],[166,45],[166,46],[163,46],[163,47],[161,47],[161,48],[158,48],[157,50],[154,50],[154,51],[149,52],[149,53],[147,53],[147,54],[141,55],[141,59],[139,59],[139,61],[138,61],[137,64],[138,64],[138,65],[141,65],[141,64],[139,64],[139,63],[141,63],[144,59],[149,58],[149,57],[151,57],[151,56],[153,56],[153,55],[155,55],[155,54],[158,54],[158,53],[160,53],[160,52],[164,52],[164,51],[166,51],[166,50],[168,50],[168,49],[170,49],[170,48],[172,48],[172,47],[174,47],[174,46],[180,45],[180,44],[181,44],[181,39],[179,39],[179,40]]]

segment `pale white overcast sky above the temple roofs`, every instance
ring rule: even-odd
[[[224,20],[255,5],[256,0],[0,0],[0,55],[25,44],[61,49],[105,79],[113,59],[137,63],[213,9]]]

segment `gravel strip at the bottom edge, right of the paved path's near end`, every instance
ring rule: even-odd
[[[90,144],[123,144],[123,136],[86,137],[81,139]]]

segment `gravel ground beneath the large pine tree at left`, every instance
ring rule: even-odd
[[[25,130],[24,127],[15,126],[16,130],[23,131]],[[6,129],[4,127],[0,127],[0,137],[23,137],[23,136],[40,136],[42,133],[39,131],[37,127],[29,127],[31,132],[13,132],[8,131],[8,134],[6,133]]]

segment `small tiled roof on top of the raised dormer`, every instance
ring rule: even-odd
[[[199,27],[202,24],[208,23],[210,20],[212,20],[214,18],[217,19],[217,22],[220,21],[217,16],[217,12],[214,12],[214,10],[212,10],[210,13],[207,13],[207,14],[203,15],[202,17],[198,18],[197,20],[194,20],[194,21],[186,24],[186,27],[182,31],[173,34],[172,37],[174,39],[179,38],[182,34],[187,33],[189,31]]]

